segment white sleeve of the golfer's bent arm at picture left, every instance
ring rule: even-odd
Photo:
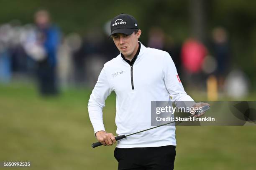
[[[92,122],[94,133],[104,130],[102,108],[105,106],[105,100],[112,92],[104,68],[101,70],[97,83],[92,90],[88,102],[89,117]]]

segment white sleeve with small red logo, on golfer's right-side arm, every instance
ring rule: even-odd
[[[168,52],[164,54],[164,82],[166,89],[168,90],[170,96],[172,97],[172,102],[179,107],[192,107],[195,104],[194,100],[187,95],[184,91],[183,85],[179,79],[179,75],[177,73],[176,67],[172,60],[172,57],[169,55]],[[192,101],[192,102],[179,102],[179,101]],[[183,104],[185,105],[183,105]]]

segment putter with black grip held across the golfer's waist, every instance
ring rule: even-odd
[[[205,105],[205,106],[202,107],[202,112],[205,112],[205,111],[207,111],[208,109],[210,109],[210,106]],[[193,115],[190,115],[190,116],[187,116],[187,117],[184,117],[184,118],[192,117],[192,116],[198,115],[198,114],[200,114],[200,113],[202,113],[202,112],[197,112],[197,113],[195,113],[195,114],[193,114]],[[141,133],[141,132],[145,132],[145,131],[147,131],[147,130],[151,130],[151,129],[154,129],[154,128],[158,128],[158,127],[160,127],[160,126],[168,125],[168,124],[171,124],[171,123],[174,123],[174,122],[177,122],[177,121],[178,121],[178,120],[175,120],[175,121],[173,121],[173,122],[169,122],[169,123],[165,123],[165,124],[162,124],[162,125],[159,125],[159,126],[155,126],[155,127],[153,127],[153,128],[141,130],[141,131],[139,131],[139,132],[131,133],[131,134],[129,134],[129,135],[120,135],[120,136],[116,136],[116,137],[115,137],[115,140],[118,141],[118,140],[121,140],[121,139],[126,138],[126,137],[128,137],[128,136],[135,135],[135,134]],[[95,147],[98,147],[98,146],[101,146],[101,145],[102,145],[102,143],[96,142],[96,143],[93,143],[93,144],[92,144],[92,148],[95,148]]]

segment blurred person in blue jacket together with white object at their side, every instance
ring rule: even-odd
[[[37,62],[37,77],[42,95],[58,93],[56,82],[56,52],[60,41],[59,29],[50,22],[46,10],[34,15],[36,28],[31,30],[25,43],[25,50]]]

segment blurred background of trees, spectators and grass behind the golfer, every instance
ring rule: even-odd
[[[119,54],[110,20],[138,20],[140,41],[169,52],[197,101],[255,100],[256,2],[0,0],[0,162],[32,169],[117,169],[96,141],[87,102]],[[104,112],[115,133],[115,94]],[[255,168],[255,127],[177,127],[175,169]]]

